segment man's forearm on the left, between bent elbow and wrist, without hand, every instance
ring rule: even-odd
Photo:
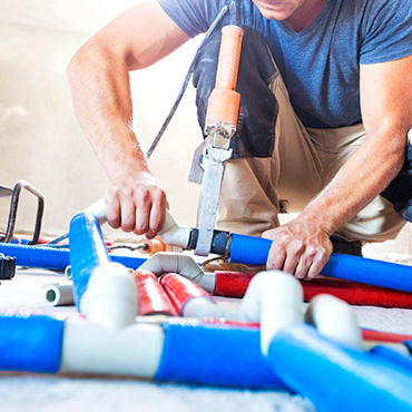
[[[126,62],[102,49],[81,49],[71,59],[68,78],[78,121],[110,179],[125,169],[148,170],[133,128],[133,105]]]

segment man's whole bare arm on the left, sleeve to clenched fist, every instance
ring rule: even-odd
[[[167,202],[133,129],[129,71],[155,63],[188,39],[147,0],[91,37],[68,66],[77,118],[110,180],[108,222],[149,238],[161,228]]]

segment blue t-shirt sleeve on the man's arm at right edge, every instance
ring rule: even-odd
[[[412,55],[411,0],[373,0],[370,4],[363,27],[361,65]]]

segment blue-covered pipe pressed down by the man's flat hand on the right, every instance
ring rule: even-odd
[[[229,262],[265,265],[272,241],[232,235]],[[412,267],[333,253],[321,272],[323,276],[412,292]]]

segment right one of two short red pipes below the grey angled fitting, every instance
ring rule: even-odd
[[[163,275],[160,277],[160,284],[179,315],[182,315],[185,304],[194,297],[207,297],[212,300],[205,290],[187,277],[176,273]]]

